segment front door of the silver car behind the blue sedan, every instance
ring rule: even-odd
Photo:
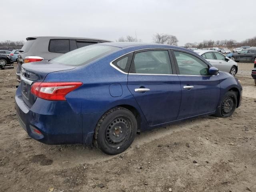
[[[218,53],[218,52],[212,52],[212,54],[214,55],[214,63],[218,66],[218,70],[220,71],[224,71],[224,72],[230,72],[230,68],[231,68],[231,64],[230,62],[232,60],[226,58],[226,56],[224,56],[223,54],[221,53]],[[211,63],[213,64],[213,66],[215,66],[214,63]]]

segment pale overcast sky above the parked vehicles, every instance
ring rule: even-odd
[[[91,37],[115,41],[154,33],[186,42],[256,35],[256,0],[5,0],[0,41],[29,36]]]

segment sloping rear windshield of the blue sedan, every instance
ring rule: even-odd
[[[120,50],[121,48],[105,45],[90,45],[85,46],[66,54],[63,54],[52,61],[58,62],[64,65],[79,66],[84,65],[103,57],[111,52]]]

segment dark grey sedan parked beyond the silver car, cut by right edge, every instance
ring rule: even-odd
[[[256,49],[246,49],[238,53],[233,53],[230,59],[239,61],[256,61]]]

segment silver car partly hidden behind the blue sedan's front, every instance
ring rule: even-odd
[[[235,76],[238,72],[237,63],[220,52],[212,50],[196,50],[195,52],[221,71],[228,72],[232,74],[232,76]]]

